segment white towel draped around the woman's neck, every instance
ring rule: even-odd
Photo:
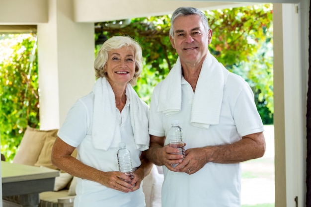
[[[98,78],[92,89],[94,93],[92,142],[95,148],[108,150],[118,147],[120,131],[116,130],[116,103],[112,87],[105,77]],[[144,151],[149,148],[148,108],[133,87],[128,83],[126,95],[130,101],[131,125],[136,148]]]

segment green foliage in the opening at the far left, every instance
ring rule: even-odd
[[[36,36],[0,36],[1,153],[11,160],[27,128],[38,127]],[[33,54],[33,55],[32,55]]]

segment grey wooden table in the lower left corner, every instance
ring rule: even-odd
[[[38,207],[39,193],[53,191],[58,170],[1,161],[2,196],[20,196],[23,207]]]

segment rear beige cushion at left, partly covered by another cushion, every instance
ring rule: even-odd
[[[34,165],[39,157],[47,136],[56,137],[58,130],[42,131],[27,127],[19,148],[14,156],[13,163]]]

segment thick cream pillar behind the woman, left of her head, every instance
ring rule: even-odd
[[[59,129],[95,81],[94,24],[73,21],[72,0],[49,0],[48,23],[38,24],[40,128]]]

